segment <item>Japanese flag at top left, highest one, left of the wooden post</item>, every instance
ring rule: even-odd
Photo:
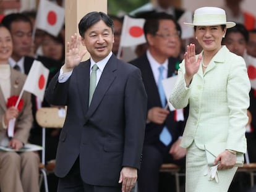
[[[64,8],[47,0],[40,0],[36,14],[36,28],[47,31],[53,36],[58,36],[64,24]]]

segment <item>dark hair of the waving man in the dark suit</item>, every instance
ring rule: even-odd
[[[103,12],[90,12],[87,15],[85,15],[79,22],[79,34],[80,36],[85,35],[85,31],[88,30],[88,28],[92,27],[95,23],[99,22],[100,20],[103,20],[103,22],[106,23],[108,27],[111,28],[112,32],[114,33],[114,23],[113,20],[106,15]]]

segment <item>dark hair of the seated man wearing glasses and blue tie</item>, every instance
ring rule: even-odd
[[[159,21],[160,20],[172,20],[176,27],[177,32],[179,33],[179,37],[181,37],[181,26],[177,23],[176,19],[174,19],[173,15],[166,14],[165,12],[152,12],[145,16],[145,23],[144,23],[144,33],[145,36],[147,34],[156,35],[156,32],[159,29]]]

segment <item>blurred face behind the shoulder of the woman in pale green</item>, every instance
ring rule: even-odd
[[[234,52],[238,56],[244,56],[246,49],[246,41],[244,36],[239,32],[231,32],[223,39],[223,44],[227,46],[229,51]]]

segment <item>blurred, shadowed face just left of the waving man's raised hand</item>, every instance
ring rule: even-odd
[[[42,51],[45,57],[49,57],[55,60],[61,60],[63,56],[64,46],[59,41],[46,34],[43,38]]]

